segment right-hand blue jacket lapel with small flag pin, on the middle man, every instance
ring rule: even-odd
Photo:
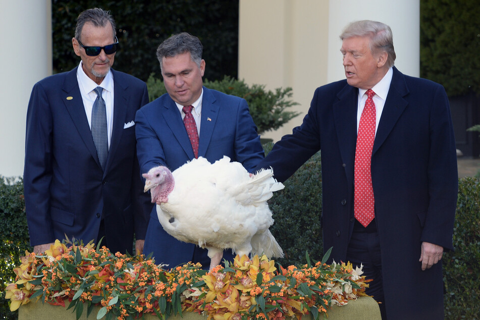
[[[220,108],[215,102],[216,99],[214,95],[211,94],[210,90],[203,87],[198,156],[205,156],[208,145],[210,144],[211,135],[214,132]]]

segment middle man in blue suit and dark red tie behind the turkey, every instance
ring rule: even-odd
[[[224,155],[251,171],[263,158],[247,102],[202,85],[202,50],[200,40],[186,32],[171,36],[157,49],[167,93],[145,105],[135,117],[141,173],[157,166],[174,171],[197,156],[213,163]],[[186,117],[193,117],[190,133],[195,137],[187,133]],[[200,262],[203,268],[210,264],[206,249],[180,242],[162,228],[156,206],[143,249],[146,255],[151,252],[157,263],[166,263],[169,268],[188,261]],[[224,258],[232,259],[232,252],[226,250]]]

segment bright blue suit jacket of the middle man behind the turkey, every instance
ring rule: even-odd
[[[174,171],[194,158],[180,111],[168,94],[140,109],[135,122],[142,173],[157,166]],[[224,155],[250,171],[263,158],[260,137],[244,99],[203,87],[198,156],[215,162]],[[143,252],[153,252],[157,263],[167,263],[172,268],[192,261],[194,248],[195,245],[170,236],[158,221],[156,206],[153,207]]]

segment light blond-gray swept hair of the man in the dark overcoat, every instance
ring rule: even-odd
[[[365,36],[370,37],[370,52],[387,52],[387,66],[393,67],[397,55],[393,47],[392,29],[385,23],[370,20],[352,22],[343,30],[340,39]]]

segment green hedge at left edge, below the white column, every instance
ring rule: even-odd
[[[0,319],[16,319],[5,300],[5,287],[15,281],[15,266],[25,250],[31,251],[23,200],[23,181],[0,176]]]

